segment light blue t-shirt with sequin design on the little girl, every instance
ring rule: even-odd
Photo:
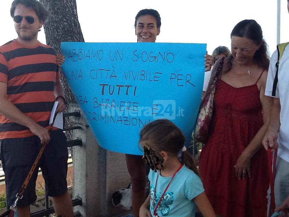
[[[160,197],[163,195],[163,192],[166,189],[166,186],[169,184],[171,178],[171,176],[163,177],[159,174],[159,178],[157,180],[154,207],[159,202]],[[148,179],[151,182],[150,211],[151,215],[154,216],[154,209],[152,204],[157,173],[151,170],[148,175]],[[171,184],[169,185],[169,188],[167,189],[160,203],[160,206],[157,208],[157,215],[174,217],[194,217],[196,204],[192,199],[202,192],[204,192],[204,187],[200,178],[194,173],[194,171],[190,170],[184,165],[176,173]]]

